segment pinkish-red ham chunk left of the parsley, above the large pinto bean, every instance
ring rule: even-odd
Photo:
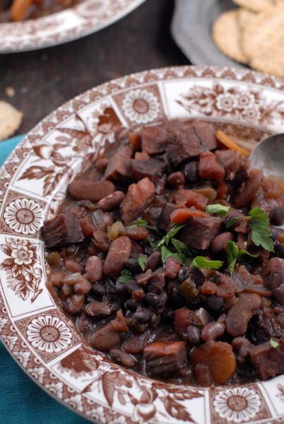
[[[150,206],[154,196],[155,185],[148,177],[141,179],[137,184],[131,184],[120,204],[120,213],[124,225],[129,225],[139,218],[143,211]]]

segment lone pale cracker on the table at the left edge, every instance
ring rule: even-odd
[[[0,140],[12,136],[22,122],[23,114],[7,102],[0,100]]]

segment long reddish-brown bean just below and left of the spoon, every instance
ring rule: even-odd
[[[234,208],[244,208],[250,201],[252,201],[254,195],[260,187],[262,179],[261,170],[252,170],[249,178],[244,182],[237,192],[232,194],[230,201]]]

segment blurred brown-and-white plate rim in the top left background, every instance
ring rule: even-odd
[[[76,40],[123,18],[145,0],[84,0],[43,18],[0,23],[0,53],[25,52]]]

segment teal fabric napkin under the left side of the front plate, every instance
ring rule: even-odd
[[[0,141],[0,166],[23,136]],[[25,374],[0,341],[1,424],[90,424],[49,396]]]

